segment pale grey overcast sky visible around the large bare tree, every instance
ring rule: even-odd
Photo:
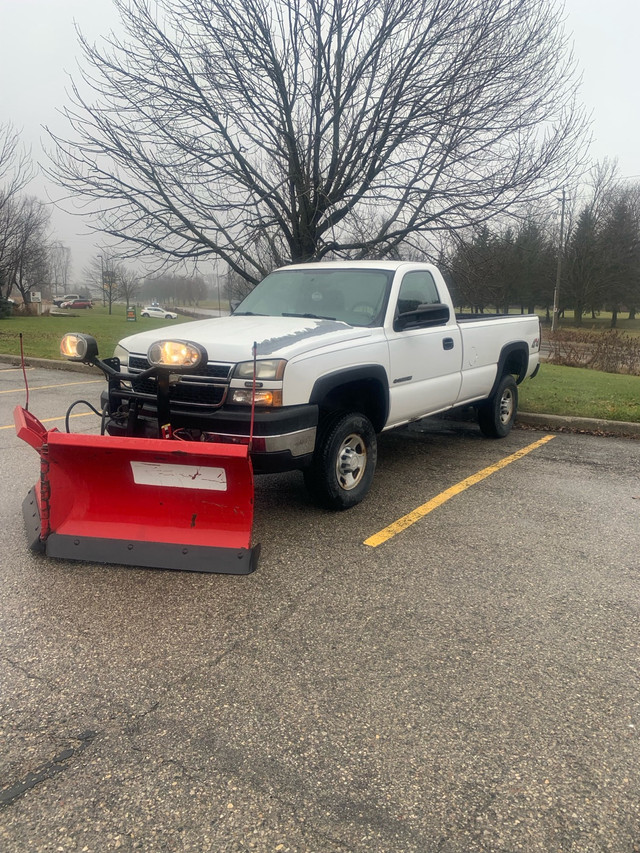
[[[583,72],[582,100],[593,114],[591,159],[617,158],[620,174],[640,176],[640,2],[566,0],[567,27]],[[43,124],[64,133],[56,108],[75,74],[76,22],[91,40],[117,22],[111,0],[0,0],[0,121],[22,132],[41,159]],[[31,191],[44,197],[42,180]],[[55,191],[54,191],[55,192]],[[82,220],[55,212],[56,237],[73,252],[74,274],[95,254]]]

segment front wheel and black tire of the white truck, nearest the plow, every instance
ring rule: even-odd
[[[371,488],[378,444],[371,421],[357,412],[330,421],[319,432],[304,482],[311,497],[327,509],[349,509]]]

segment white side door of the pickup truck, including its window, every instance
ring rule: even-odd
[[[388,424],[403,423],[452,406],[462,381],[462,338],[455,316],[443,325],[401,329],[400,312],[439,303],[440,296],[428,270],[405,273],[400,283],[389,342],[390,403]]]

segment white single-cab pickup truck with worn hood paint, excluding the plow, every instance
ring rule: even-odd
[[[174,430],[236,443],[252,431],[256,472],[301,469],[319,503],[345,509],[369,490],[377,433],[473,405],[485,435],[505,436],[517,384],[538,370],[540,323],[535,315],[456,316],[431,264],[284,267],[229,317],[124,338],[110,361],[147,375],[110,380],[109,434],[158,435],[148,353],[166,340],[206,350],[205,367],[171,379]]]

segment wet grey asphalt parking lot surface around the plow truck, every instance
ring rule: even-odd
[[[59,428],[102,386],[28,376]],[[640,442],[414,426],[346,513],[257,478],[255,574],[142,570],[27,551],[21,388],[0,850],[640,851]]]

